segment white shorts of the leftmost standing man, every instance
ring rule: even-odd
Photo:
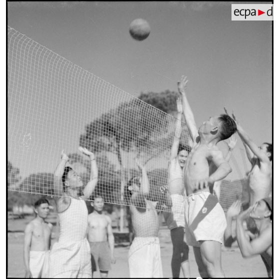
[[[29,269],[33,278],[48,278],[49,250],[30,251]]]

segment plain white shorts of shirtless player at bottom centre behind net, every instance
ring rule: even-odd
[[[162,263],[158,237],[135,237],[129,248],[130,278],[162,278]]]

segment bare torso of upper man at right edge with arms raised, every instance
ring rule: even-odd
[[[271,163],[267,164],[254,159],[248,176],[250,205],[257,200],[268,197],[271,182]]]

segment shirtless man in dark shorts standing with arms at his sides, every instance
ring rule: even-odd
[[[103,213],[103,205],[102,197],[95,195],[91,202],[94,211],[88,215],[87,239],[91,248],[92,278],[97,264],[101,278],[107,278],[110,262],[115,263],[111,219]]]

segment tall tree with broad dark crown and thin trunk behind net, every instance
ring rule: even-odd
[[[120,165],[120,203],[126,183],[122,151],[148,154],[149,159],[170,148],[172,136],[169,126],[173,118],[167,113],[176,110],[177,93],[141,93],[139,99],[119,104],[103,113],[85,127],[79,144],[93,152],[111,151]],[[123,227],[123,207],[120,208],[120,229]]]

